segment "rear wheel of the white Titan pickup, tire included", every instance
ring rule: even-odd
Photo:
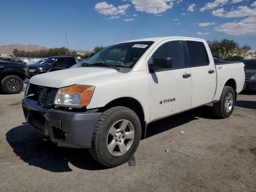
[[[213,104],[214,114],[220,118],[228,118],[235,106],[236,95],[230,86],[224,86],[220,100]]]

